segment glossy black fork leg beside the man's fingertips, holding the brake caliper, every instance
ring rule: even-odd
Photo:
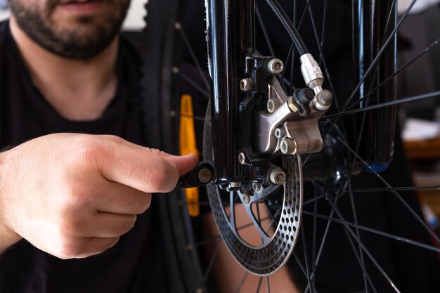
[[[238,162],[242,135],[238,105],[243,98],[238,84],[245,56],[254,53],[254,0],[206,0],[205,4],[215,183],[240,185],[246,172]]]

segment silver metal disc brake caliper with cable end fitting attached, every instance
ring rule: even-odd
[[[310,54],[301,57],[307,88],[287,96],[276,77],[268,77],[266,110],[256,115],[255,146],[267,155],[302,155],[319,152],[323,140],[318,121],[330,108],[332,93],[323,90],[323,73]]]

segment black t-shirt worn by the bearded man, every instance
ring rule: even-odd
[[[20,58],[8,22],[0,23],[0,58],[2,147],[59,132],[112,134],[148,143],[142,126],[139,59],[124,38],[119,46],[117,93],[94,121],[69,121],[44,99]],[[115,247],[87,259],[60,260],[23,240],[1,256],[0,292],[166,292],[156,222],[153,200]]]

